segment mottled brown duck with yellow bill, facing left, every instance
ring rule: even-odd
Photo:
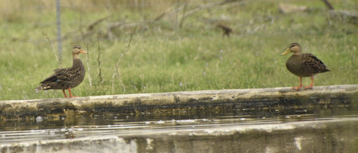
[[[311,85],[306,86],[305,89],[313,88],[313,75],[330,71],[326,68],[326,65],[324,65],[323,62],[316,58],[313,54],[303,54],[300,44],[292,43],[290,47],[281,54],[281,56],[290,52],[293,52],[294,54],[287,59],[286,68],[294,75],[300,77],[300,85],[298,87],[292,87],[292,89],[299,90],[303,87],[302,77],[309,76],[311,76]]]

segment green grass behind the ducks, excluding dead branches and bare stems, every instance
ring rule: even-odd
[[[266,1],[265,1],[266,2]],[[278,1],[267,5],[254,1],[240,9],[211,9],[199,11],[207,18],[222,19],[236,31],[230,38],[222,37],[222,31],[213,25],[188,17],[181,29],[171,20],[149,24],[137,29],[131,44],[119,63],[120,75],[114,80],[115,64],[126,50],[132,29],[118,30],[118,39],[100,40],[101,73],[98,76],[97,34],[87,35],[88,50],[82,40],[81,29],[98,19],[109,16],[107,21],[125,20],[135,22],[149,20],[165,9],[151,8],[136,10],[121,8],[97,11],[63,9],[62,66],[72,65],[71,48],[81,45],[89,52],[80,57],[86,66],[86,78],[71,91],[76,96],[160,93],[191,90],[246,89],[292,87],[299,78],[285,66],[289,55],[280,56],[290,43],[300,43],[304,53],[312,53],[321,59],[331,72],[317,74],[314,85],[358,84],[357,25],[344,19],[331,19],[324,11],[321,1],[309,2],[309,6],[322,8],[310,13],[281,14],[277,11]],[[333,1],[334,7],[344,9],[344,3]],[[296,1],[289,4],[305,5]],[[347,6],[348,7],[348,6]],[[160,11],[159,11],[160,10]],[[209,12],[209,13],[208,13]],[[2,19],[0,25],[0,100],[62,98],[61,90],[36,93],[34,88],[58,68],[58,63],[46,37],[56,38],[55,13],[53,10],[36,15],[17,14],[11,19]],[[226,16],[227,19],[223,19]],[[292,19],[294,19],[292,21]],[[291,20],[291,23],[290,23]],[[50,23],[50,24],[47,24]],[[329,24],[330,23],[330,24]],[[105,23],[102,23],[103,26]],[[77,37],[76,37],[77,36]],[[56,41],[53,45],[57,49]],[[91,76],[92,87],[88,77]],[[120,80],[123,84],[121,84]],[[310,78],[303,84],[309,85]],[[122,85],[125,87],[122,88]]]

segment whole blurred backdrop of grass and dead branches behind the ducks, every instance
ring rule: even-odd
[[[53,69],[72,65],[73,45],[89,52],[80,55],[87,72],[71,90],[75,96],[292,87],[299,78],[286,69],[290,55],[280,54],[294,42],[332,70],[316,75],[314,85],[358,83],[356,0],[60,0],[60,6],[57,61],[56,1],[0,0],[0,100],[62,98],[61,90],[34,88]]]

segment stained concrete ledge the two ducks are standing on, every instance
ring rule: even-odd
[[[291,88],[203,90],[153,94],[103,95],[79,98],[0,101],[2,117],[79,113],[171,113],[188,110],[289,109],[357,107],[358,85]]]

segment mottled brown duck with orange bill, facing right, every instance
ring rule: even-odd
[[[69,97],[72,98],[71,88],[81,84],[84,79],[86,70],[79,59],[79,53],[88,54],[86,51],[81,49],[81,46],[73,46],[72,57],[73,65],[71,68],[59,68],[53,70],[55,73],[50,75],[48,78],[43,80],[41,85],[35,90],[48,90],[48,89],[62,89],[62,92],[67,98],[65,89],[68,90]]]

